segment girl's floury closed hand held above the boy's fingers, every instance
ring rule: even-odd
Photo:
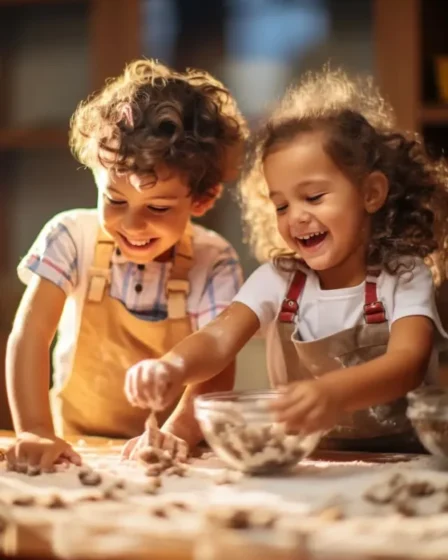
[[[169,361],[142,360],[128,369],[124,392],[133,406],[163,410],[183,389],[181,368]]]

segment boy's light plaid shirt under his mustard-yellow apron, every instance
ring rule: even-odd
[[[25,284],[38,275],[67,295],[53,354],[55,387],[62,385],[72,369],[98,227],[96,209],[62,212],[45,225],[18,267]],[[197,330],[231,303],[241,286],[242,272],[233,247],[217,233],[194,225],[192,243],[187,311],[192,329]],[[167,313],[164,286],[171,267],[171,262],[155,261],[137,265],[114,253],[110,295],[142,320],[162,320]]]

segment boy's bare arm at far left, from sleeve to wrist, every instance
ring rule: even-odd
[[[50,347],[65,300],[61,288],[35,275],[20,302],[6,349],[6,387],[17,434],[54,434]]]

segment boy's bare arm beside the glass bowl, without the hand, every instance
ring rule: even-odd
[[[176,409],[162,427],[162,431],[183,439],[190,448],[200,443],[203,435],[194,416],[194,399],[205,393],[232,390],[235,383],[235,369],[236,364],[232,362],[215,377],[196,385],[188,385]]]

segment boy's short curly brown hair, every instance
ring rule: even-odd
[[[160,166],[175,170],[200,198],[236,178],[246,136],[234,99],[211,75],[137,60],[80,103],[70,147],[93,170],[148,176],[150,184]]]

